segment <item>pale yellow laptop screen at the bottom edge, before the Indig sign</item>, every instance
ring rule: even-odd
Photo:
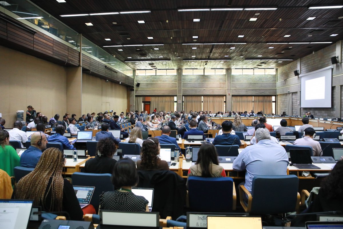
[[[262,229],[261,217],[208,216],[207,228]]]

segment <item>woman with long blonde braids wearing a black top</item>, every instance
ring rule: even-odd
[[[67,211],[71,220],[82,220],[83,211],[73,186],[62,177],[66,160],[57,148],[48,148],[36,168],[17,183],[14,199],[33,199],[42,211]]]

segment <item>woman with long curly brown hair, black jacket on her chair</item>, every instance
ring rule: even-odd
[[[137,170],[170,170],[168,163],[159,159],[161,146],[157,138],[143,141],[141,160],[137,161]]]

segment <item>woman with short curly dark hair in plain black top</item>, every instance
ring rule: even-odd
[[[96,145],[95,158],[86,161],[84,172],[86,173],[112,173],[116,160],[113,155],[117,148],[114,141],[110,138],[100,139]]]

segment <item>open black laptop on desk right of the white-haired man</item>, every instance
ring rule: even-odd
[[[309,149],[289,149],[289,155],[291,156],[293,166],[298,169],[320,169],[312,164]]]

